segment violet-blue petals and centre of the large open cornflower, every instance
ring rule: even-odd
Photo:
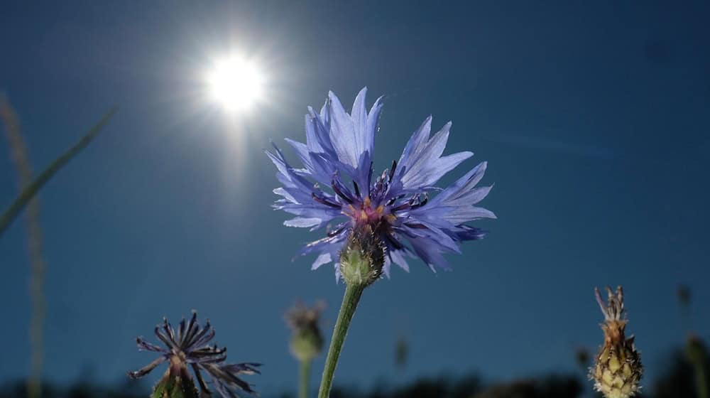
[[[476,187],[486,162],[449,187],[438,188],[437,181],[444,174],[473,154],[442,156],[451,122],[430,136],[432,117],[427,117],[399,161],[373,179],[382,97],[367,112],[366,91],[359,92],[350,114],[332,92],[320,113],[308,108],[306,143],[286,139],[302,168],[290,166],[275,144],[273,152],[266,151],[283,184],[274,190],[283,197],[274,208],[296,215],[284,225],[311,230],[327,226],[327,237],[307,244],[300,254],[318,254],[312,269],[335,262],[337,279],[339,252],[350,232],[359,227],[373,231],[386,247],[383,271],[388,276],[391,263],[409,270],[405,257],[419,257],[432,271],[449,269],[443,254],[460,253],[462,241],[484,237],[484,231],[467,223],[496,218],[490,210],[476,206],[491,190],[490,186]],[[429,198],[430,193],[436,194]]]

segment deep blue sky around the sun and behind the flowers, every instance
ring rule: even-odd
[[[447,153],[471,150],[495,183],[486,240],[417,263],[364,295],[337,381],[443,372],[496,380],[574,371],[601,343],[594,286],[623,284],[650,376],[692,326],[710,337],[710,32],[706,4],[466,2],[413,6],[286,2],[9,2],[0,90],[21,117],[35,169],[111,105],[119,114],[40,193],[48,262],[45,373],[99,380],[151,360],[135,349],[163,315],[209,317],[232,361],[264,362],[262,391],[295,383],[282,314],[342,285],[293,254],[320,235],[283,227],[261,149],[304,139],[302,115],[334,90],[386,95],[376,169],[429,114],[452,120]],[[268,71],[267,100],[225,114],[204,95],[231,50]],[[4,141],[0,154],[8,154]],[[293,153],[288,153],[292,156]],[[0,156],[0,205],[16,194]],[[28,371],[28,259],[21,222],[0,239],[0,380]],[[412,264],[414,265],[414,264]],[[411,346],[393,367],[398,335]],[[322,358],[315,365],[322,367]],[[318,372],[316,372],[318,373]],[[315,382],[316,377],[314,377]]]

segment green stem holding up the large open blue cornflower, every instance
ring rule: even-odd
[[[333,338],[330,340],[330,348],[328,348],[328,356],[325,359],[318,398],[328,398],[330,395],[330,387],[333,384],[333,375],[335,374],[335,367],[338,365],[340,351],[343,348],[343,343],[345,343],[350,321],[355,314],[355,308],[357,308],[365,286],[364,284],[351,284],[345,288],[343,303],[340,306],[338,320],[335,322],[335,328],[333,329]]]

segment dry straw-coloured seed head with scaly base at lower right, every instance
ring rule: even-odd
[[[639,380],[643,374],[641,358],[633,345],[633,336],[626,338],[626,315],[623,308],[621,286],[613,292],[607,287],[608,300],[605,304],[594,289],[596,301],[604,314],[601,330],[604,332],[604,345],[596,355],[596,362],[591,369],[594,388],[606,398],[633,397],[640,389]]]

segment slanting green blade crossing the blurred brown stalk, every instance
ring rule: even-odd
[[[114,113],[116,113],[116,110],[118,110],[116,107],[111,109],[107,114],[104,114],[104,117],[99,120],[97,124],[94,125],[87,134],[82,136],[82,138],[74,145],[72,146],[69,150],[67,150],[62,156],[58,157],[55,161],[52,162],[47,168],[40,173],[40,175],[35,178],[34,181],[30,185],[27,185],[20,195],[13,201],[13,203],[10,205],[9,208],[7,208],[2,215],[0,215],[0,237],[3,235],[3,232],[5,232],[6,228],[9,227],[10,223],[17,217],[17,215],[21,212],[23,208],[29,203],[29,201],[33,198],[35,193],[37,193],[42,186],[47,183],[47,181],[52,178],[52,176],[59,171],[60,168],[62,168],[65,164],[67,164],[74,156],[79,154],[84,147],[89,145],[89,143],[94,139],[94,137],[99,134],[99,131],[104,127],[109,122],[109,119],[114,116]]]

